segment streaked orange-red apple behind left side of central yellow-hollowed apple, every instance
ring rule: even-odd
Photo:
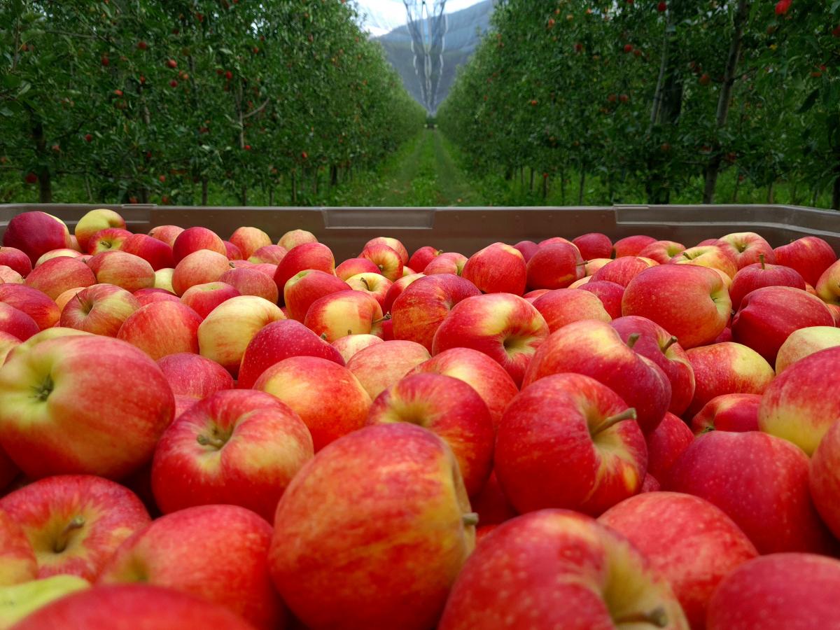
[[[433,274],[412,282],[391,305],[395,339],[416,341],[431,351],[434,333],[452,308],[480,294],[472,282],[453,274]]]

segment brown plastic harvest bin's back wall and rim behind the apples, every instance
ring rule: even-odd
[[[0,205],[0,239],[16,214],[43,210],[71,232],[82,215],[108,207],[133,232],[158,225],[203,226],[227,239],[242,225],[278,239],[289,229],[309,230],[337,261],[358,255],[376,236],[402,240],[409,252],[423,245],[471,255],[495,241],[515,244],[552,236],[602,232],[613,240],[648,234],[691,246],[732,232],[757,232],[778,246],[802,236],[826,239],[840,253],[840,213],[781,205],[606,207],[200,207],[91,204]]]

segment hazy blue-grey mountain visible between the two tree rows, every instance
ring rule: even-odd
[[[490,28],[495,0],[484,0],[454,13],[404,24],[374,39],[385,49],[391,66],[408,92],[435,113],[449,94],[455,71],[470,59]],[[429,54],[424,55],[423,34]]]

